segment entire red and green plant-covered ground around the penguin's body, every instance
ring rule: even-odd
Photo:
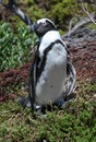
[[[76,69],[74,99],[47,116],[23,109],[16,102],[27,95],[31,62],[0,73],[0,142],[96,141],[96,38],[67,39]]]

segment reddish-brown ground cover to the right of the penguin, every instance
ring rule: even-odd
[[[80,80],[96,81],[96,40],[86,40],[83,47],[71,47],[70,57]]]

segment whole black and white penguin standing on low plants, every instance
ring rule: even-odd
[[[67,45],[52,21],[40,19],[33,25],[39,38],[29,73],[29,97],[21,97],[24,107],[35,110],[49,104],[62,105],[75,83],[75,69],[68,58]],[[71,70],[72,69],[72,70]],[[67,75],[69,83],[65,91]]]

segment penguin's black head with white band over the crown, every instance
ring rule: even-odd
[[[49,31],[57,31],[57,27],[49,19],[40,19],[34,24],[34,31],[38,37],[43,37]]]

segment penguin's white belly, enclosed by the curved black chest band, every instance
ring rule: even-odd
[[[67,51],[56,44],[48,52],[45,69],[36,85],[36,104],[55,103],[62,97],[67,75]]]

